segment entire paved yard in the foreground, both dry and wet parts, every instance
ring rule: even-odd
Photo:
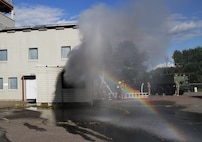
[[[151,96],[94,107],[0,109],[0,141],[198,142],[201,96]]]

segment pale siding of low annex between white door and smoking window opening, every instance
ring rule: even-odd
[[[39,66],[37,68],[37,102],[58,103],[62,98],[60,73],[63,67]]]

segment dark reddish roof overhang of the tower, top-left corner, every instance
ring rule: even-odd
[[[13,10],[12,0],[0,0],[0,12],[9,13]]]

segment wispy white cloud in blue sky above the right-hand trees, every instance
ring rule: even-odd
[[[196,17],[186,17],[182,14],[172,14],[167,18],[168,34],[174,42],[182,42],[202,36],[202,20]]]

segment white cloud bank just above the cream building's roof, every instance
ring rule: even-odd
[[[65,19],[65,12],[59,8],[44,5],[17,5],[15,7],[16,26],[34,26],[57,23],[72,23],[76,20]]]

